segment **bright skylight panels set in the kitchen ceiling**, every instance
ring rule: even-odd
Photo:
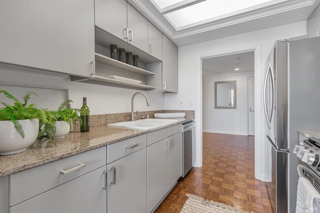
[[[175,29],[214,21],[285,0],[150,0]]]

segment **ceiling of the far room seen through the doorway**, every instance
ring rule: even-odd
[[[254,52],[239,52],[204,58],[201,60],[203,75],[223,75],[254,72]],[[239,70],[235,71],[234,69]]]

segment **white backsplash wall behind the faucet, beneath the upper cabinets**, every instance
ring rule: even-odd
[[[69,78],[57,78],[4,69],[0,69],[0,83],[68,88],[69,99],[74,102],[72,107],[80,108],[82,106],[82,97],[87,97],[87,105],[91,115],[130,112],[131,97],[135,92],[138,92],[138,90],[132,89],[72,82]],[[0,89],[6,89],[10,92],[10,87],[0,85]],[[26,91],[29,90],[31,89]],[[145,93],[151,102],[151,106],[147,107],[144,97],[137,95],[134,98],[134,110],[149,111],[164,109],[164,95],[160,91],[145,91]],[[0,101],[3,101],[3,98],[4,96],[1,96]],[[19,97],[17,98],[19,99]]]

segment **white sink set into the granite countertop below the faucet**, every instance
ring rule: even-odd
[[[108,124],[108,126],[118,127],[118,128],[127,128],[127,129],[148,130],[156,127],[165,126],[174,122],[177,122],[177,120],[150,118],[150,119],[141,119],[141,120],[135,120],[135,121],[112,123],[112,124]]]

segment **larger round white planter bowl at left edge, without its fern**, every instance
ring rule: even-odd
[[[11,121],[0,121],[0,155],[23,152],[35,140],[39,132],[39,120],[19,120],[24,139],[16,132]]]

